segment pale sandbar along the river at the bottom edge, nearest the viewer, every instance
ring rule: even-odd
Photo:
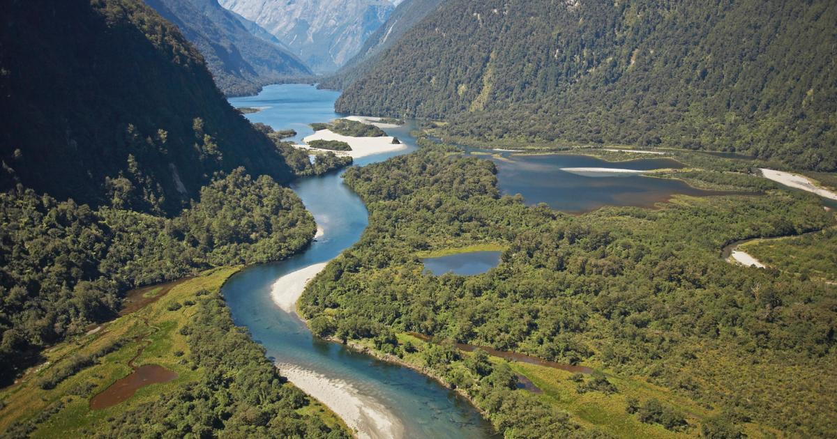
[[[363,396],[344,380],[332,379],[299,366],[277,363],[285,376],[308,395],[328,406],[357,437],[366,439],[403,437],[404,429],[398,416],[369,396]]]

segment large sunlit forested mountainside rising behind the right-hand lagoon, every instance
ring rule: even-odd
[[[738,151],[837,170],[837,3],[449,0],[337,101],[475,140]]]

